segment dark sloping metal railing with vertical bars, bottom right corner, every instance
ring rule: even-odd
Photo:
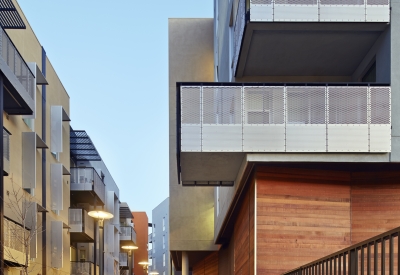
[[[282,275],[400,274],[399,235],[397,227]]]

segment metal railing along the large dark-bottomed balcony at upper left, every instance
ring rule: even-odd
[[[7,33],[0,30],[0,54],[29,97],[34,99],[35,77]]]

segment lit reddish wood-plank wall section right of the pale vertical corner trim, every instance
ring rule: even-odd
[[[349,180],[337,171],[257,171],[258,274],[281,274],[351,244]]]

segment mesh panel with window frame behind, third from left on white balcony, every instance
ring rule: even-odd
[[[244,124],[283,124],[283,87],[244,87]]]

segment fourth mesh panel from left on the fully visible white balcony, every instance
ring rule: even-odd
[[[288,124],[325,124],[325,87],[287,87]]]

